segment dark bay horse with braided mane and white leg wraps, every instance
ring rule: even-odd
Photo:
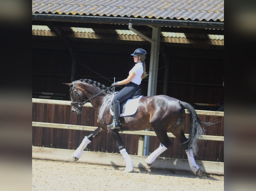
[[[90,102],[98,116],[98,128],[90,135],[85,136],[80,146],[72,154],[72,161],[78,160],[82,151],[95,137],[102,133],[109,132],[119,148],[120,153],[126,162],[126,172],[133,172],[132,159],[127,153],[119,129],[110,129],[107,127],[112,122],[113,116],[110,113],[110,102],[113,92],[111,87],[106,87],[98,82],[81,79],[72,83],[63,83],[70,87],[72,112],[80,114],[83,105]],[[185,109],[190,113],[190,127],[188,139],[184,135]],[[202,170],[196,164],[194,155],[198,151],[198,137],[204,134],[201,124],[211,125],[211,122],[203,122],[198,117],[193,106],[189,103],[180,101],[166,95],[153,95],[141,97],[138,102],[138,108],[135,114],[120,117],[122,130],[138,131],[152,128],[158,139],[159,147],[147,158],[146,163],[151,166],[154,160],[168,147],[172,142],[167,136],[167,131],[171,132],[183,145],[188,157],[188,162],[194,174],[202,176]]]

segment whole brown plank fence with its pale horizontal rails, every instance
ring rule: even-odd
[[[71,112],[71,101],[32,98],[32,145],[39,147],[76,149],[84,136],[97,128],[97,115],[90,103],[86,103],[83,113],[75,115]],[[218,120],[212,126],[202,126],[206,135],[199,142],[196,160],[224,162],[224,112],[196,110],[203,121]],[[187,113],[187,111],[186,111]],[[185,135],[189,126],[189,115],[185,119]],[[160,144],[155,133],[149,131],[120,132],[127,152],[142,155],[144,136],[149,136],[148,150],[153,152]],[[168,133],[172,146],[159,157],[187,159],[185,151],[172,133]],[[111,135],[106,133],[92,140],[87,151],[119,153]]]

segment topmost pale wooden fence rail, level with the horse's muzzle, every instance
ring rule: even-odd
[[[55,100],[55,99],[39,99],[39,98],[32,98],[32,103],[71,105],[71,101]],[[91,103],[86,103],[86,104],[84,104],[84,107],[92,107],[92,104]],[[206,111],[206,110],[196,110],[196,111],[197,111],[197,114],[202,114],[202,115],[224,116],[223,111]],[[187,109],[185,109],[185,112],[189,113]]]

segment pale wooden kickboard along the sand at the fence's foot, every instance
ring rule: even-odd
[[[75,150],[70,149],[32,146],[32,158],[71,162],[73,158],[72,153],[74,151]],[[147,165],[145,159],[147,156],[130,155],[130,157],[132,158],[134,168],[146,168]],[[93,151],[83,151],[81,158],[76,162],[124,167],[126,166],[125,160],[121,154]],[[208,174],[224,175],[224,162],[196,160],[196,163],[200,166],[203,172]],[[188,160],[163,157],[157,157],[151,168],[191,171]]]

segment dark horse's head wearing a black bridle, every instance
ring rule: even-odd
[[[70,97],[71,97],[71,105],[72,105],[72,109],[71,111],[75,114],[80,114],[83,111],[83,100],[84,100],[84,93],[83,91],[76,87],[75,82],[73,83],[62,83],[65,86],[69,86],[70,87]],[[81,101],[82,100],[82,101]]]

